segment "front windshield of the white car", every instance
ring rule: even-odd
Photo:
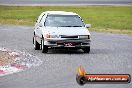
[[[45,21],[48,27],[84,27],[78,15],[48,15]]]

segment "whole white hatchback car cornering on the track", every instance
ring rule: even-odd
[[[34,28],[35,50],[47,53],[49,48],[83,49],[90,52],[90,33],[81,17],[73,12],[46,11],[41,13]]]

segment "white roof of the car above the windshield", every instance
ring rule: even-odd
[[[65,11],[46,11],[45,13],[53,15],[77,15],[76,13]]]

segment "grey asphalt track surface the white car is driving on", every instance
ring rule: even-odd
[[[132,84],[76,83],[77,67],[88,73],[132,75],[132,36],[91,32],[90,54],[81,50],[33,49],[33,27],[0,25],[0,47],[16,49],[40,58],[43,63],[29,70],[0,77],[0,88],[132,88]]]

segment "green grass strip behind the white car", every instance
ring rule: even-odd
[[[47,10],[76,12],[92,29],[132,30],[132,6],[0,6],[0,24],[34,25]]]

